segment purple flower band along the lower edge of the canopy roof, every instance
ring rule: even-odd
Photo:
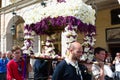
[[[61,0],[59,0],[61,1]],[[53,34],[56,29],[64,29],[69,25],[69,30],[72,30],[72,26],[77,26],[77,29],[81,33],[96,33],[96,27],[91,24],[85,24],[80,19],[77,19],[74,16],[58,16],[55,18],[47,17],[37,23],[32,23],[31,25],[26,25],[25,29],[31,31],[34,30],[36,34]]]

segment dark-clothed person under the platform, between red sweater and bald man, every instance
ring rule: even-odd
[[[47,80],[52,75],[52,63],[51,61],[36,59],[33,71],[34,80]]]

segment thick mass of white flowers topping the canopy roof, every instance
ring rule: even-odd
[[[95,10],[82,0],[48,0],[46,7],[39,5],[24,16],[26,24],[36,23],[47,17],[56,18],[58,16],[74,16],[83,23],[95,24]]]

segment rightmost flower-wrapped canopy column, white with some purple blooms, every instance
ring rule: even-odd
[[[81,60],[89,60],[92,61],[94,54],[94,45],[95,45],[95,41],[96,39],[94,38],[95,36],[95,32],[92,32],[90,34],[86,34],[85,38],[84,38],[84,43],[82,44],[83,48],[84,48],[84,54],[81,57]]]

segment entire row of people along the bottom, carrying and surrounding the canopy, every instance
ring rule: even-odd
[[[92,63],[80,62],[83,47],[79,42],[72,42],[66,52],[65,59],[59,62],[36,59],[31,67],[32,80],[120,80],[120,52],[112,59],[104,48],[96,47]],[[29,80],[25,65],[18,46],[0,53],[0,80]]]

